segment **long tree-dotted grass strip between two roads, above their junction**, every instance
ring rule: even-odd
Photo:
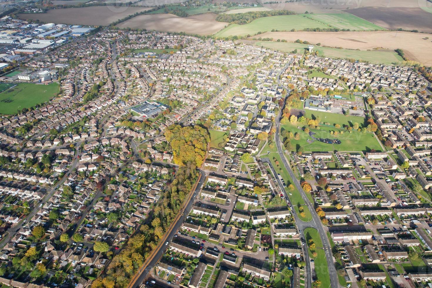
[[[264,149],[265,150],[265,149]],[[274,169],[276,170],[276,173],[279,173],[286,184],[286,193],[289,198],[289,201],[291,201],[292,206],[294,206],[295,212],[297,212],[297,216],[299,216],[299,219],[305,222],[309,222],[312,220],[311,212],[308,209],[308,206],[306,206],[305,200],[303,200],[302,195],[300,192],[295,188],[294,190],[288,190],[289,184],[293,184],[291,177],[289,176],[288,171],[286,171],[285,167],[283,167],[282,160],[278,153],[276,152],[270,152],[267,157],[270,159],[270,161],[273,164]],[[276,162],[273,158],[276,158],[277,161],[279,161],[279,167],[276,165]],[[277,175],[275,175],[277,177]],[[293,184],[294,185],[294,184]],[[291,193],[292,195],[289,195]],[[305,217],[302,217],[299,212],[299,206],[303,207],[303,211],[305,212]]]

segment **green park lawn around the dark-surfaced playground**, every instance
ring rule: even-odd
[[[302,124],[298,123],[300,127]],[[291,139],[291,145],[293,150],[297,150],[299,147],[303,147],[305,152],[328,152],[328,151],[370,151],[375,149],[376,151],[381,151],[381,146],[378,140],[375,138],[373,133],[361,133],[361,132],[353,132],[349,133],[346,130],[320,126],[320,129],[310,129],[311,132],[314,132],[314,137],[316,138],[329,138],[329,139],[339,139],[341,144],[327,144],[324,142],[320,142],[318,140],[314,140],[309,143],[307,140],[312,140],[311,136],[308,133],[304,132],[302,129],[297,128],[298,125],[288,123],[281,125],[282,129],[291,131],[293,134],[299,133],[300,139],[295,140]],[[330,131],[338,131],[339,134],[337,136],[331,135]],[[343,131],[343,134],[340,132]]]

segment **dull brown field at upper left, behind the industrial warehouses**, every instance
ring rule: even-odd
[[[51,9],[47,13],[22,13],[21,19],[46,23],[107,26],[118,19],[151,9],[151,7],[91,6],[83,8]]]

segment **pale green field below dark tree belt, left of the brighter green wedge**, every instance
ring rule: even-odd
[[[231,24],[214,34],[214,36],[247,36],[255,35],[258,32],[270,32],[272,29],[290,31],[291,29],[303,30],[305,28],[330,28],[330,26],[301,15],[280,15],[261,17],[244,25]]]

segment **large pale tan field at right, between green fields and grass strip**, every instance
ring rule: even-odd
[[[399,56],[393,52],[387,52],[387,54],[380,53],[374,54],[376,52],[385,51],[375,51],[375,47],[384,47],[385,49],[397,49],[400,48],[405,52],[405,56],[410,60],[414,60],[424,64],[432,63],[432,42],[425,40],[423,38],[427,37],[425,34],[412,33],[412,32],[394,32],[394,31],[377,31],[377,32],[270,32],[260,35],[260,37],[273,38],[273,39],[285,39],[287,41],[294,42],[297,39],[303,41],[309,41],[312,44],[321,43],[321,45],[327,45],[330,47],[343,47],[347,49],[360,49],[361,51],[351,51],[353,53],[358,52],[369,52],[365,55],[370,55],[368,57],[369,61],[377,63],[380,59],[385,60],[386,63],[395,62],[395,60],[400,61]],[[429,37],[431,38],[431,37]],[[315,46],[317,49],[317,46]],[[323,47],[324,48],[324,47]],[[339,51],[337,49],[336,51]],[[372,51],[365,51],[372,50]],[[337,56],[337,54],[330,53],[331,51],[326,51],[326,56],[333,57],[346,57]],[[390,54],[388,54],[390,53]],[[373,57],[377,55],[377,57]],[[391,56],[393,55],[393,56]],[[363,59],[368,60],[368,59]],[[383,62],[384,63],[384,62]]]

